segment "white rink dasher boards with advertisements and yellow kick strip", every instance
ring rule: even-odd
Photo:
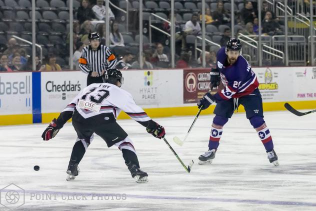
[[[184,103],[184,95],[194,88],[198,96],[205,92],[200,84],[207,83],[208,71],[123,70],[122,88],[151,117],[195,115],[197,98]],[[316,67],[254,67],[253,71],[260,83],[264,111],[284,110],[284,102],[296,109],[316,107]],[[191,78],[185,76],[187,72]],[[85,86],[86,74],[80,71],[0,73],[0,125],[49,122]],[[201,114],[210,114],[213,109],[211,105]],[[240,106],[238,112],[243,111]],[[118,118],[129,117],[121,112]]]

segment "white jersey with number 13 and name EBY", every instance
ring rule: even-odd
[[[151,119],[135,103],[129,92],[111,83],[92,83],[88,85],[80,91],[62,112],[73,112],[74,108],[84,118],[110,112],[117,118],[119,112],[123,110],[138,122]]]

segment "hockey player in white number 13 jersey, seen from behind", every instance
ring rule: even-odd
[[[146,182],[148,175],[139,168],[133,143],[117,124],[116,117],[121,110],[125,111],[132,119],[145,126],[148,133],[157,138],[164,137],[164,128],[135,104],[129,92],[120,88],[123,77],[118,69],[107,69],[102,77],[104,83],[92,83],[85,87],[62,110],[58,118],[51,121],[41,137],[43,140],[53,138],[63,124],[72,117],[77,139],[66,171],[67,180],[72,180],[78,175],[78,164],[95,133],[104,139],[108,147],[115,145],[122,151],[125,164],[136,182]]]

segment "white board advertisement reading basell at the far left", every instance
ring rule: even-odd
[[[32,113],[32,73],[0,74],[0,115]]]

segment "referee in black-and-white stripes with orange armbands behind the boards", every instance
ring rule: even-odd
[[[100,44],[100,36],[98,33],[89,33],[88,39],[90,44],[85,46],[81,51],[79,67],[82,72],[88,74],[86,85],[102,83],[104,70],[114,68],[116,58],[107,46]]]

